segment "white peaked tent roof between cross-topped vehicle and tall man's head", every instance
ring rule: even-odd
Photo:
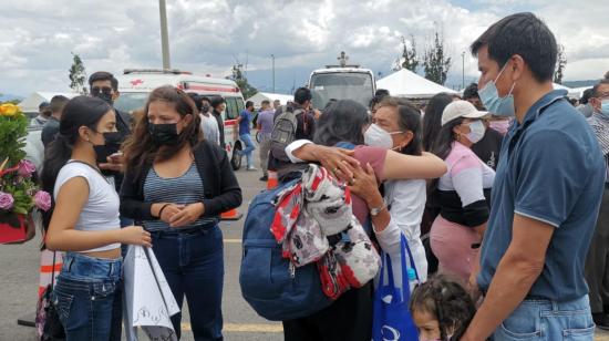
[[[376,81],[376,89],[386,89],[393,96],[409,99],[430,99],[441,92],[457,93],[454,90],[426,80],[407,69],[402,69]]]

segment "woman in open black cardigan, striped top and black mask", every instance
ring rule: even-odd
[[[241,204],[226,152],[203,140],[193,100],[155,89],[125,148],[121,214],[152,234],[153,250],[195,340],[221,340],[224,283],[219,215]],[[172,317],[180,335],[182,313]]]

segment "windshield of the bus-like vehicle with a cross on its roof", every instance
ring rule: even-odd
[[[365,72],[313,73],[309,82],[313,107],[323,108],[332,99],[353,100],[368,107],[374,96],[372,82],[372,74]]]

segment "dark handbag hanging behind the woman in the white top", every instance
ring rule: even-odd
[[[59,313],[51,300],[51,294],[55,285],[55,256],[53,251],[53,270],[51,275],[51,283],[40,296],[35,311],[35,327],[41,341],[64,341],[65,330],[59,319]]]

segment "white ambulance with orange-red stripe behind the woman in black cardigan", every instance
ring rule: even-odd
[[[237,135],[237,117],[245,108],[244,96],[237,83],[226,79],[195,75],[179,70],[126,69],[118,80],[121,96],[114,103],[120,111],[133,112],[143,108],[148,94],[156,87],[173,85],[187,93],[197,93],[209,99],[221,96],[226,101],[223,113],[226,152],[235,170],[241,167],[241,157],[234,153],[245,147]]]

